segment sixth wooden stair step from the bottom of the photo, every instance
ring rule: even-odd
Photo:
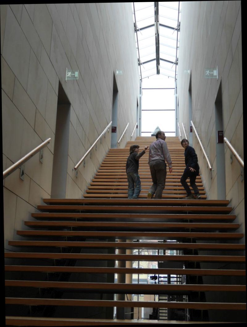
[[[18,247],[80,247],[80,248],[114,248],[143,250],[245,250],[245,244],[224,243],[152,243],[152,242],[86,242],[86,241],[8,241]]]

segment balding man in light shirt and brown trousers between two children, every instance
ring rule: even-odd
[[[165,132],[159,130],[155,137],[156,141],[149,146],[148,164],[153,185],[149,189],[148,199],[152,199],[153,196],[155,199],[162,198],[162,192],[165,188],[167,176],[166,162],[169,166],[169,172],[172,172],[172,161],[165,141]]]

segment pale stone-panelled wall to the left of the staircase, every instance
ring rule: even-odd
[[[3,169],[51,137],[43,163],[38,154],[25,163],[24,181],[20,169],[4,180],[7,246],[51,197],[59,85],[70,103],[65,197],[81,198],[109,150],[111,129],[77,177],[72,169],[111,121],[113,75],[117,139],[129,122],[120,147],[136,124],[139,75],[131,3],[1,5],[0,14]],[[66,68],[79,71],[79,79],[65,81]]]

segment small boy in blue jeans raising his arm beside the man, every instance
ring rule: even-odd
[[[126,162],[126,174],[128,179],[128,199],[138,199],[141,191],[141,181],[138,174],[139,159],[143,156],[148,146],[139,152],[138,144],[134,144],[129,148],[129,156]]]

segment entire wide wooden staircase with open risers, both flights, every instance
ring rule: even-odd
[[[23,240],[9,241],[6,325],[245,321],[244,234],[227,200],[207,200],[200,176],[202,199],[183,200],[184,150],[178,138],[166,139],[173,172],[167,173],[163,199],[146,198],[152,183],[148,151],[139,161],[139,199],[127,199],[128,149],[139,144],[142,150],[154,139],[138,137],[125,149],[110,149],[84,198],[43,199],[34,220],[25,221],[28,229],[17,231]],[[138,249],[147,253],[128,253]],[[125,266],[132,261],[158,262],[158,268]],[[157,275],[160,282],[114,283],[115,274]],[[158,295],[159,301],[128,301],[126,294],[128,300],[130,294]],[[139,307],[167,314],[137,319],[132,312]],[[126,319],[113,318],[114,308],[117,313],[124,308]]]

